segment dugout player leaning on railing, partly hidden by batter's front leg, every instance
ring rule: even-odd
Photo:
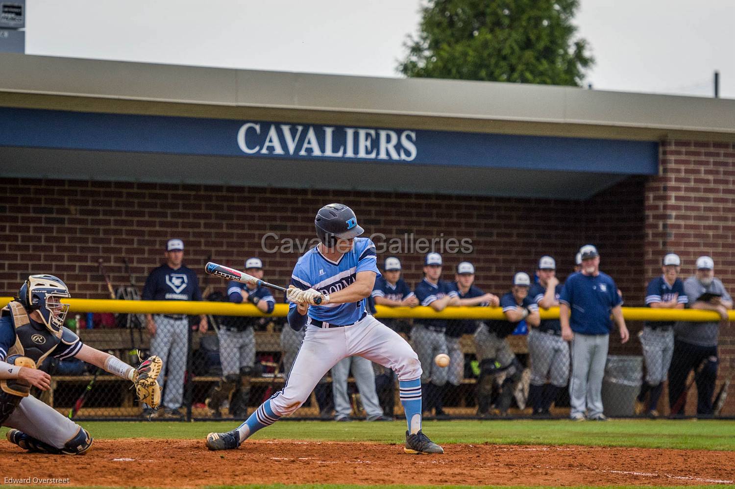
[[[384,307],[416,307],[418,299],[409,286],[401,278],[401,260],[396,257],[387,257],[383,263],[383,274],[375,279],[375,286],[371,294],[375,304]],[[383,324],[397,333],[409,332],[410,326],[401,319],[383,319]],[[395,405],[395,372],[373,363],[376,369],[375,390],[383,413],[393,415]]]

